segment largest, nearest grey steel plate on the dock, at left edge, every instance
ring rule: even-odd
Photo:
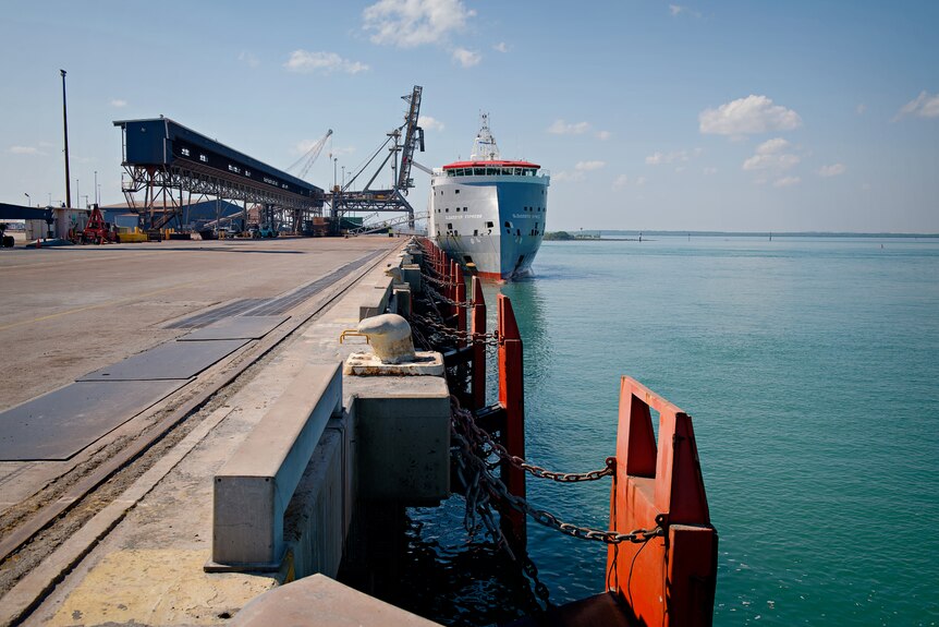
[[[0,460],[69,459],[187,382],[82,382],[34,398],[0,413]]]

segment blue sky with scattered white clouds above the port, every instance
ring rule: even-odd
[[[503,158],[550,171],[548,230],[939,232],[931,0],[8,0],[0,202],[64,198],[60,69],[82,206],[96,180],[123,202],[114,120],[281,169],[332,129],[329,188],[420,85],[416,160],[467,158],[488,112]]]

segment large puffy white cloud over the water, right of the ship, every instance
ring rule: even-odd
[[[792,131],[802,118],[792,109],[773,105],[766,96],[749,95],[725,103],[717,109],[705,109],[698,116],[704,134],[742,136],[773,131]]]

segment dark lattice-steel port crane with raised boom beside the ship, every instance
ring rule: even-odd
[[[417,125],[420,116],[422,92],[423,87],[415,85],[410,95],[402,96],[402,100],[407,103],[404,123],[387,134],[385,143],[375,150],[349,182],[334,185],[332,193],[327,194],[325,200],[330,206],[333,228],[339,228],[342,217],[349,212],[406,212],[407,221],[413,226],[414,207],[407,202],[406,196],[407,191],[414,186],[414,179],[411,178],[414,153],[418,149],[424,152],[424,129]],[[365,172],[369,170],[382,150],[387,150],[385,159],[362,189],[354,190],[356,180],[367,176]],[[391,186],[373,188],[376,179],[387,166],[391,168]]]

